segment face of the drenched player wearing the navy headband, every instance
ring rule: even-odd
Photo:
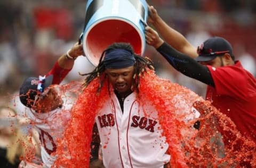
[[[106,69],[109,81],[113,88],[120,94],[126,94],[131,91],[133,85],[134,66],[122,69]]]

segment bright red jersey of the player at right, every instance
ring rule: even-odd
[[[244,136],[256,142],[256,80],[239,61],[233,66],[209,68],[215,87],[208,86],[206,100],[226,114]]]

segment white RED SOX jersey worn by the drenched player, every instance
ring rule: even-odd
[[[178,106],[183,104],[179,103]],[[189,109],[191,106],[188,105]],[[165,154],[169,145],[161,135],[157,111],[150,104],[139,105],[135,93],[125,98],[124,112],[118,98],[112,93],[97,114],[95,121],[106,167],[156,168],[170,161],[171,156]],[[188,116],[185,120],[193,117]]]

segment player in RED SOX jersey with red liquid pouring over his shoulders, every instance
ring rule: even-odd
[[[171,82],[155,77],[152,70],[152,62],[134,54],[129,44],[114,43],[103,51],[99,65],[85,80],[86,88],[72,110],[76,118],[73,118],[71,127],[67,128],[63,137],[63,142],[66,142],[65,145],[69,149],[70,159],[61,156],[61,151],[58,153],[57,149],[60,154],[56,162],[58,166],[65,162],[66,167],[80,167],[89,162],[86,146],[91,139],[81,136],[91,132],[89,128],[92,127],[93,121],[90,117],[94,117],[97,124],[98,134],[95,133],[94,137],[100,137],[102,162],[105,167],[155,168],[169,164],[186,166],[182,161],[183,154],[178,149],[182,139],[175,140],[175,132],[182,130],[178,130],[173,121],[165,121],[163,116],[183,115],[182,121],[177,121],[180,124],[184,120],[193,120],[199,114],[195,110],[194,114],[191,107],[196,100],[202,98],[177,85],[175,87],[179,88],[179,93],[175,92]],[[153,75],[155,80],[165,83],[165,86],[153,84],[149,76],[142,77],[148,73]],[[175,113],[171,112],[173,110]],[[166,132],[163,132],[162,127],[165,127]],[[166,127],[171,128],[169,132]],[[196,132],[196,129],[191,132]],[[70,136],[71,133],[73,136]],[[169,140],[173,140],[173,145],[170,146],[170,143],[166,142],[163,133]],[[93,138],[95,139],[97,138]],[[95,141],[93,148],[97,149],[100,144],[98,140]],[[82,152],[79,152],[78,148]],[[101,162],[97,159],[97,152],[98,150],[95,150],[92,154],[94,158],[91,159],[90,167],[95,167]]]

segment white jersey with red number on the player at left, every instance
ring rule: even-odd
[[[71,105],[63,104],[48,113],[27,111],[28,118],[35,124],[41,141],[41,157],[44,167],[51,167],[55,156],[51,154],[57,149],[57,139],[62,138],[63,131],[71,117]]]

